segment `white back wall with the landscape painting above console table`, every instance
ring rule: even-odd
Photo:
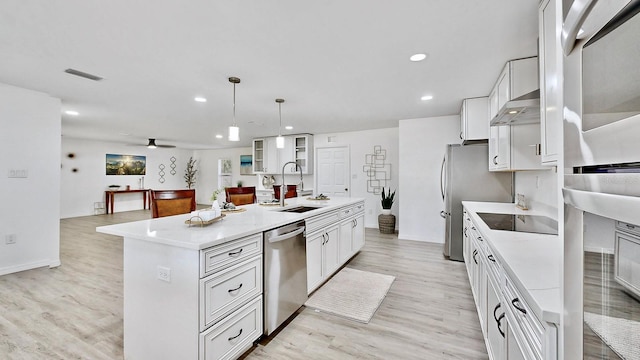
[[[73,154],[73,158],[68,155]],[[193,155],[191,150],[181,149],[147,149],[145,146],[128,146],[112,142],[95,140],[62,138],[61,168],[61,206],[62,218],[94,215],[94,203],[104,203],[104,192],[109,185],[126,185],[138,188],[141,176],[106,175],[106,154],[144,155],[147,158],[144,186],[147,189],[186,189],[184,171]],[[171,157],[175,157],[175,175],[171,174]],[[164,179],[161,183],[159,166],[165,166]],[[196,167],[200,164],[196,162]],[[74,172],[73,170],[76,169]],[[200,183],[200,171],[196,174],[197,186]],[[142,209],[142,194],[119,194],[115,196],[114,212]]]

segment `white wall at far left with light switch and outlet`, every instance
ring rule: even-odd
[[[0,275],[60,264],[60,100],[0,84]],[[9,178],[10,170],[26,178]],[[15,235],[7,245],[5,237]]]

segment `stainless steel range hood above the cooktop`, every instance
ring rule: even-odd
[[[540,89],[508,101],[496,116],[491,126],[535,124],[540,122]]]

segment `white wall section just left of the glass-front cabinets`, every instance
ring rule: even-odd
[[[231,160],[231,184],[236,186],[238,181],[242,181],[242,186],[257,186],[256,175],[240,175],[240,155],[251,155],[250,147],[241,147],[222,150],[196,150],[194,159],[199,165],[200,180],[196,183],[196,201],[198,204],[211,204],[211,195],[216,189],[222,188],[218,184],[218,160]]]

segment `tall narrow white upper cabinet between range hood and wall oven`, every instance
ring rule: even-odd
[[[555,166],[561,148],[562,134],[562,3],[544,0],[540,3],[540,143],[542,164]]]

